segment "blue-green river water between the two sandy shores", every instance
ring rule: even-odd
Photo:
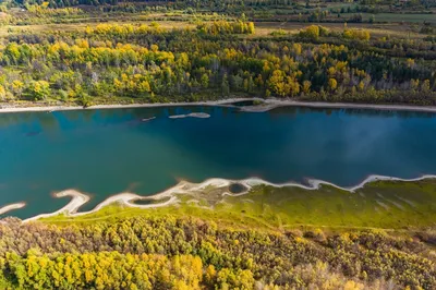
[[[207,112],[209,119],[169,119]],[[141,119],[156,117],[148,122]],[[315,178],[354,185],[368,174],[436,173],[436,116],[415,112],[167,107],[0,114],[0,207],[21,218],[59,209],[52,192],[89,193],[90,209],[184,179]]]

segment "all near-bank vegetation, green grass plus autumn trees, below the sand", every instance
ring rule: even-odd
[[[227,186],[208,186],[169,207],[7,218],[0,286],[434,289],[435,188],[435,180],[376,182],[355,193],[257,186],[223,197]]]

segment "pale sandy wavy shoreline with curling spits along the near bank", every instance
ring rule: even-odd
[[[164,192],[160,192],[160,193],[157,193],[154,195],[149,195],[149,196],[142,196],[142,195],[137,195],[137,194],[130,193],[130,192],[116,194],[116,195],[109,196],[108,198],[106,198],[105,201],[99,203],[92,210],[81,212],[81,213],[77,213],[77,210],[80,209],[80,207],[82,207],[84,204],[86,204],[90,200],[90,197],[84,193],[76,191],[76,190],[65,190],[65,191],[58,192],[53,195],[55,197],[71,196],[72,200],[65,206],[63,206],[62,208],[60,208],[53,213],[40,214],[40,215],[34,216],[34,217],[24,219],[23,222],[33,221],[33,220],[37,220],[40,218],[52,217],[52,216],[57,216],[60,214],[64,214],[69,217],[84,216],[84,215],[96,213],[99,209],[104,208],[105,206],[108,206],[108,205],[111,205],[114,203],[118,203],[118,204],[121,204],[121,205],[124,205],[128,207],[136,207],[136,208],[162,207],[162,206],[168,206],[168,205],[173,205],[173,204],[179,203],[179,198],[177,197],[178,194],[190,194],[194,191],[201,191],[208,186],[225,188],[225,186],[229,186],[232,183],[240,183],[245,186],[245,190],[241,193],[235,193],[235,194],[231,193],[230,191],[226,191],[222,193],[222,195],[241,196],[241,195],[247,194],[254,186],[263,185],[263,184],[269,185],[269,186],[275,186],[275,188],[294,186],[294,188],[300,188],[300,189],[311,190],[311,191],[318,190],[322,185],[329,185],[329,186],[334,186],[339,190],[343,190],[343,191],[353,193],[356,190],[364,188],[365,184],[376,182],[376,181],[413,182],[413,181],[421,181],[421,180],[425,180],[425,179],[436,179],[436,176],[424,174],[422,177],[413,178],[413,179],[401,179],[401,178],[395,178],[395,177],[373,174],[373,176],[370,176],[366,179],[364,179],[358,185],[349,186],[349,188],[340,186],[340,185],[334,184],[331,182],[316,180],[316,179],[308,179],[307,180],[308,185],[304,185],[304,184],[301,184],[298,182],[272,183],[272,182],[268,182],[263,179],[259,179],[259,178],[249,178],[249,179],[242,179],[242,180],[211,178],[211,179],[207,179],[201,183],[191,183],[187,181],[181,181],[178,184],[175,184],[174,186],[172,186]],[[146,204],[146,205],[141,205],[141,204],[134,203],[134,201],[138,201],[138,200],[159,201],[159,200],[162,200],[166,197],[169,197],[169,200],[164,203]],[[8,209],[5,212],[0,212],[0,214],[4,214],[12,209],[22,208],[24,206],[25,206],[25,203],[9,205],[9,206],[0,208],[0,210],[4,209],[4,208]]]

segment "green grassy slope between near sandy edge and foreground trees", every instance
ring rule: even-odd
[[[262,185],[241,196],[222,196],[227,188],[179,195],[178,205],[140,209],[108,206],[97,213],[57,216],[46,222],[93,222],[131,216],[192,216],[218,223],[268,230],[291,228],[420,229],[436,225],[436,180],[379,181],[354,193],[323,185],[319,190]],[[195,202],[193,202],[195,201]]]

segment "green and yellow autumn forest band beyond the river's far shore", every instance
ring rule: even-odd
[[[436,44],[372,39],[310,25],[294,36],[242,38],[253,22],[98,24],[24,33],[0,51],[0,98],[76,102],[196,101],[253,96],[436,104]],[[205,94],[207,92],[207,94]]]

